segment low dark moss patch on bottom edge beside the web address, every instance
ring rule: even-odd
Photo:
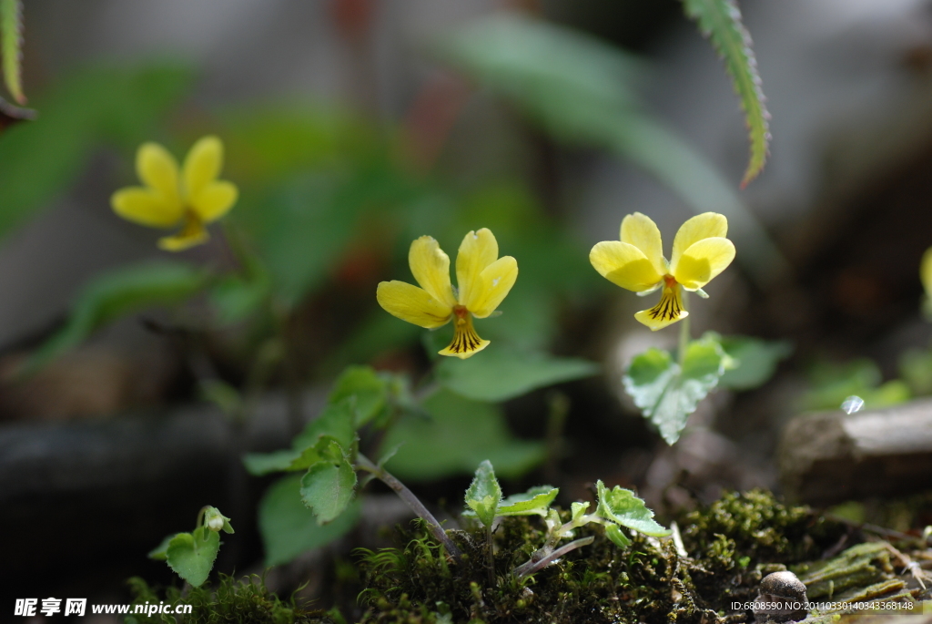
[[[130,611],[137,604],[191,605],[191,613],[187,615],[133,614],[125,617],[127,624],[333,624],[324,613],[302,609],[294,599],[282,602],[258,576],[237,581],[232,576],[220,575],[216,589],[203,585],[183,592],[170,587],[164,595],[138,576],[127,583],[133,597]]]

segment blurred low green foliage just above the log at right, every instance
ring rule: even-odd
[[[848,396],[859,396],[867,409],[885,408],[908,401],[910,388],[900,380],[882,383],[883,376],[869,358],[844,364],[816,362],[808,374],[809,389],[802,409],[840,409]]]

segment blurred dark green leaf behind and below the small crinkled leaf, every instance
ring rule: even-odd
[[[335,520],[320,525],[301,502],[301,475],[281,478],[268,488],[259,503],[259,533],[266,549],[266,565],[279,565],[321,548],[342,537],[359,521],[358,500]]]

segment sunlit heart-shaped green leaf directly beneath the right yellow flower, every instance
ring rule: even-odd
[[[666,443],[673,444],[686,426],[687,417],[718,384],[726,358],[717,341],[693,340],[680,370],[668,352],[651,348],[631,361],[622,380],[624,390],[644,416],[657,425]]]

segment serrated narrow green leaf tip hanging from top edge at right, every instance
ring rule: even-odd
[[[751,157],[741,182],[744,187],[761,173],[767,161],[767,144],[770,141],[770,114],[764,105],[761,75],[751,49],[751,35],[741,22],[741,10],[735,0],[683,0],[683,7],[719,52],[725,62],[725,70],[732,76],[734,90],[741,98],[741,107],[745,109]]]

